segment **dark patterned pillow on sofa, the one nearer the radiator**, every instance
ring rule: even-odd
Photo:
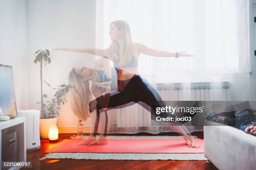
[[[230,112],[212,112],[207,115],[206,119],[229,126],[234,126],[236,122],[236,112],[237,110],[231,110]]]

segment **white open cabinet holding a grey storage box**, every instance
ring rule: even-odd
[[[0,169],[2,164],[2,130],[10,128],[17,131],[17,147],[18,147],[18,161],[26,161],[26,117],[15,117],[7,121],[0,121]],[[20,168],[12,167],[9,170],[18,170]]]

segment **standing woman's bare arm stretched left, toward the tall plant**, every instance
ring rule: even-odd
[[[86,53],[90,53],[92,55],[97,55],[97,56],[100,56],[100,57],[107,57],[109,48],[99,49],[99,48],[59,47],[59,48],[54,48],[53,50],[72,51],[72,52],[86,52]]]

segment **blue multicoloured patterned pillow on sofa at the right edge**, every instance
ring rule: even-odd
[[[256,109],[246,109],[235,113],[234,127],[256,136]]]

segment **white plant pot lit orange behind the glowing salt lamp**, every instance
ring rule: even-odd
[[[40,138],[48,138],[49,129],[52,125],[57,124],[58,117],[50,118],[50,119],[40,119]]]

